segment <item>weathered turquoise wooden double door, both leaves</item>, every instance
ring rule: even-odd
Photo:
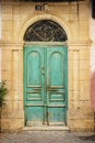
[[[26,125],[67,123],[68,53],[66,46],[24,46]]]

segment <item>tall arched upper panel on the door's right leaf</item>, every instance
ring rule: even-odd
[[[62,54],[54,52],[55,50],[48,50],[48,70],[49,70],[49,85],[50,86],[62,86],[63,85],[63,66],[62,66]]]

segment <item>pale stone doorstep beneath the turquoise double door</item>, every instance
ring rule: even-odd
[[[64,131],[69,132],[68,127],[24,127],[23,131]]]

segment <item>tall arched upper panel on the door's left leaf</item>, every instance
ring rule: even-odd
[[[40,86],[41,79],[40,79],[40,53],[39,51],[31,51],[27,54],[27,85],[28,86]]]

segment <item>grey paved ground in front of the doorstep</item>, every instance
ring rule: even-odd
[[[95,143],[95,132],[21,131],[0,133],[0,143]]]

